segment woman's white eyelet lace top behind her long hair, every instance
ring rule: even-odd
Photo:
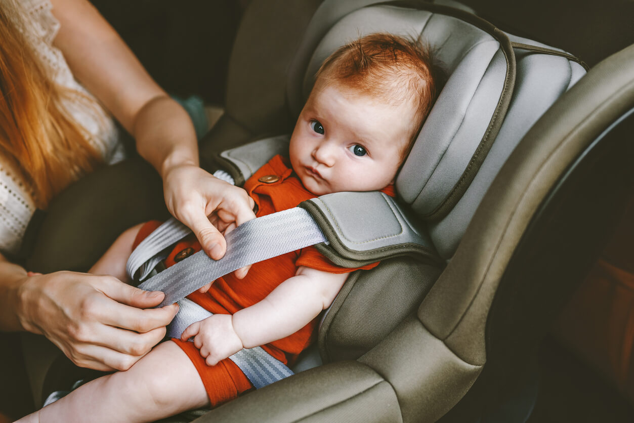
[[[3,6],[0,0],[0,7]],[[60,23],[51,13],[49,0],[18,0],[24,8],[28,20],[25,25],[25,37],[34,46],[36,55],[49,67],[53,79],[68,88],[91,96],[84,87],[75,81],[61,51],[53,46],[53,39],[60,29]],[[112,118],[103,108],[82,110],[77,103],[67,101],[64,106],[75,121],[86,129],[89,140],[101,150],[105,162],[114,163],[124,159],[124,149],[119,143]],[[29,220],[35,212],[34,192],[22,180],[6,157],[0,155],[0,252],[16,253],[20,249],[22,237]]]

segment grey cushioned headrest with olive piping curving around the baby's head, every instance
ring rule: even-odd
[[[314,74],[330,53],[373,32],[421,36],[437,50],[436,59],[449,75],[396,180],[406,203],[423,218],[433,216],[472,166],[501,98],[507,59],[495,37],[460,18],[392,5],[366,6],[334,23],[318,42],[304,73],[302,98],[306,100]],[[483,158],[486,153],[478,154]]]

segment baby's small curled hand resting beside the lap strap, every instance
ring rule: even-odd
[[[215,366],[243,348],[242,341],[233,329],[231,315],[213,315],[200,322],[191,323],[181,335],[181,341],[194,337],[194,345],[200,349],[208,366]]]

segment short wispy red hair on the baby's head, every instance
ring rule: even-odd
[[[413,104],[415,122],[406,154],[436,101],[444,72],[420,40],[376,33],[349,42],[328,56],[316,74],[316,85],[335,81],[394,105],[403,101]]]

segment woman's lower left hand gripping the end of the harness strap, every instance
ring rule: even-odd
[[[18,316],[80,367],[127,370],[163,339],[178,312],[176,304],[150,309],[163,297],[114,277],[59,271],[22,281]]]

